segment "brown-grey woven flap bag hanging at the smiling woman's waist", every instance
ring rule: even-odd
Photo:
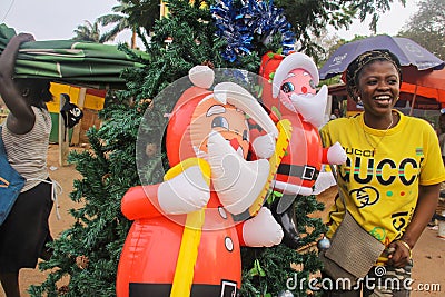
[[[346,210],[330,238],[330,247],[319,253],[324,271],[334,279],[348,278],[354,285],[376,264],[385,245],[367,232]]]

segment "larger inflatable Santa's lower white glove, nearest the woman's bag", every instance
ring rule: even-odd
[[[258,215],[247,220],[243,226],[243,240],[249,247],[279,245],[283,236],[281,226],[266,207],[263,207]]]

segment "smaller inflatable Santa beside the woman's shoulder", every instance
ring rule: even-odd
[[[264,103],[277,119],[291,122],[293,135],[275,181],[275,190],[284,195],[273,209],[285,231],[283,241],[297,248],[299,235],[295,226],[295,199],[299,195],[312,195],[322,165],[343,164],[346,152],[338,142],[323,148],[318,128],[324,122],[328,91],[326,86],[316,89],[319,76],[314,61],[301,52],[275,60],[279,61],[275,73],[270,69],[264,70],[273,78],[271,96],[265,95]]]

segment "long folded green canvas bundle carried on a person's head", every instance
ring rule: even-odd
[[[14,29],[0,24],[0,52],[16,34]],[[144,67],[149,56],[139,50],[129,53],[118,46],[49,40],[22,43],[16,62],[16,77],[47,78],[51,81],[93,88],[125,88],[122,70]]]

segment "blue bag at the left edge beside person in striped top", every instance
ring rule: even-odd
[[[11,211],[26,181],[8,161],[1,130],[2,126],[0,126],[0,225]]]

